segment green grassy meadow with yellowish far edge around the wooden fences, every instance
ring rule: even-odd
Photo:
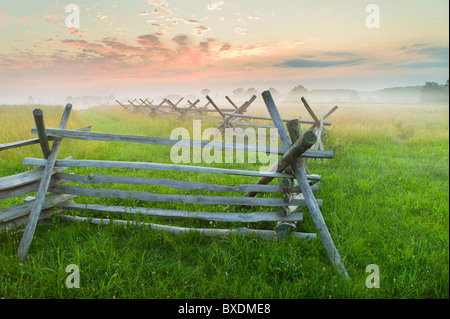
[[[57,127],[62,108],[42,108],[46,125]],[[280,111],[286,117],[306,114],[304,110],[293,111],[298,108],[280,107]],[[324,114],[329,106],[323,110],[313,108],[317,114]],[[30,133],[34,126],[32,109],[0,106],[0,143],[35,137]],[[333,126],[325,145],[335,151],[335,158],[310,162],[309,168],[312,173],[322,175],[316,197],[323,199],[321,210],[350,280],[333,269],[319,238],[312,242],[293,239],[271,242],[235,235],[226,238],[197,233],[172,235],[132,226],[68,223],[54,217],[37,227],[24,261],[16,257],[22,233],[0,234],[0,297],[448,298],[448,105],[344,105],[330,120]],[[150,120],[120,109],[96,108],[73,112],[68,128],[89,124],[97,132],[161,137],[169,137],[175,127],[192,126],[188,121]],[[169,154],[170,147],[65,140],[59,158],[170,163]],[[1,152],[0,177],[30,169],[21,165],[24,157],[40,158],[39,145]],[[241,164],[239,168],[252,166]],[[119,173],[197,181],[189,173]],[[255,179],[205,174],[202,181],[234,185],[252,183]],[[4,200],[0,209],[21,200]],[[131,199],[77,198],[76,202],[204,209],[201,205],[138,203]],[[217,205],[211,210],[230,209],[234,208]],[[236,227],[198,221],[135,219],[193,227]],[[274,225],[239,226],[271,229]],[[297,228],[316,232],[307,210],[304,222]],[[66,287],[66,267],[70,264],[79,266],[79,289]],[[370,264],[379,267],[379,289],[366,286],[370,274],[366,273],[366,267]]]

